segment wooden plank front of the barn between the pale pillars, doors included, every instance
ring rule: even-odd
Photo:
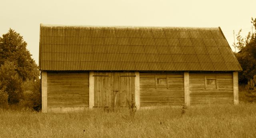
[[[184,72],[138,74],[140,106],[184,104]],[[232,72],[188,74],[190,105],[234,103]],[[135,94],[134,72],[94,72],[92,77],[93,107],[125,107]],[[215,78],[216,86],[206,87],[207,78]],[[47,72],[46,85],[48,110],[80,110],[89,106],[88,72]]]

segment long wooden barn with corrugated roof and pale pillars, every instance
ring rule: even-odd
[[[40,25],[42,112],[238,104],[242,70],[220,27]]]

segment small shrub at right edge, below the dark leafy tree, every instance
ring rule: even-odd
[[[248,81],[246,85],[246,100],[248,102],[254,102],[256,101],[256,75],[253,76],[253,79]]]

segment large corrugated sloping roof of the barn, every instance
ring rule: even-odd
[[[242,70],[220,28],[40,25],[40,70]]]

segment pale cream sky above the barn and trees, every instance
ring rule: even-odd
[[[0,0],[0,36],[10,28],[20,33],[37,64],[40,24],[220,26],[232,47],[233,30],[252,32],[255,5],[256,0]]]

